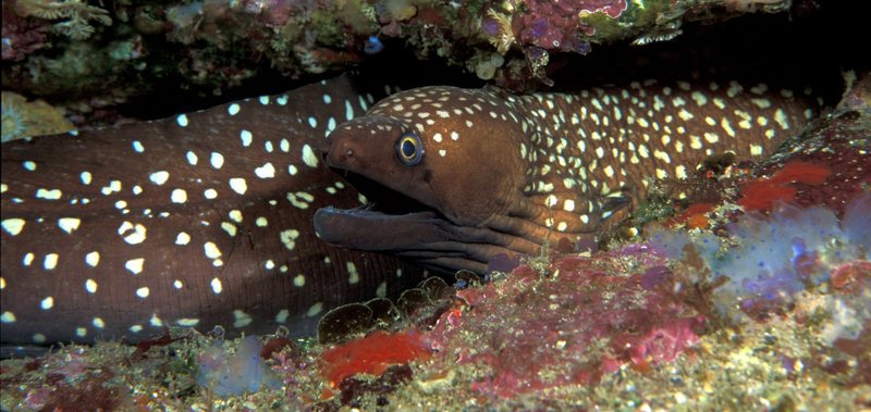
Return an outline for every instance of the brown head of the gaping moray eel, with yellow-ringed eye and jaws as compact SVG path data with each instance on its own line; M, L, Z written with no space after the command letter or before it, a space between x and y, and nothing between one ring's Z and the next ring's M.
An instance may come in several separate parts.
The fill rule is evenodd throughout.
M367 204L319 210L318 236L439 272L539 253L552 230L525 191L523 122L489 90L427 87L382 100L329 136L327 163Z

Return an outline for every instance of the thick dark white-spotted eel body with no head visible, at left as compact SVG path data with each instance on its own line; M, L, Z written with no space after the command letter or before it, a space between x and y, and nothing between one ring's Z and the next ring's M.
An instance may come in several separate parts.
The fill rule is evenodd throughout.
M3 345L136 341L169 326L304 335L331 308L419 282L311 227L319 208L360 204L320 158L327 133L376 101L358 86L340 77L3 143Z

